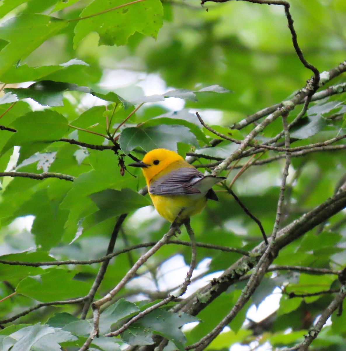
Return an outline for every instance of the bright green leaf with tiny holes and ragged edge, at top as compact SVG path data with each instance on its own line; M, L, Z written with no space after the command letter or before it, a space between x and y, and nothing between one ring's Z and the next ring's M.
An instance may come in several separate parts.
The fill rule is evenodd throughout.
M99 13L79 21L75 27L74 47L90 32L97 32L99 45L125 45L135 32L152 38L162 26L163 8L159 0L146 0L108 11L125 4L124 0L94 0L84 8L81 17ZM101 13L104 12L104 13Z

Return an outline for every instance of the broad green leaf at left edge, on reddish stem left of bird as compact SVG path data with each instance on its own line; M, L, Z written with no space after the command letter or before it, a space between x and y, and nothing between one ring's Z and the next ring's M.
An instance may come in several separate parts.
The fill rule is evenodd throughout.
M1 150L0 157L13 146L21 146L19 163L48 144L60 139L69 130L67 119L52 110L29 112L10 124L17 130Z

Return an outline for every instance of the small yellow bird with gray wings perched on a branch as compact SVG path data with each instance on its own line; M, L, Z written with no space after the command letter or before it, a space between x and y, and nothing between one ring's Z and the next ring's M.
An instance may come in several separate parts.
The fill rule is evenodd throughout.
M179 154L166 149L149 151L142 161L129 164L141 167L149 195L159 214L173 222L202 211L207 199L218 201L212 186L226 179L204 176Z

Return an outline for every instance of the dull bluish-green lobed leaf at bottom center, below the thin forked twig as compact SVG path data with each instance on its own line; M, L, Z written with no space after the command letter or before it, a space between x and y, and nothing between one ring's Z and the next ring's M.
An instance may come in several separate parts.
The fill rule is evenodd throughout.
M186 313L172 313L158 309L133 323L121 337L130 345L150 345L153 343L152 339L151 343L149 340L152 332L171 340L179 350L184 351L186 338L179 328L186 323L198 320Z

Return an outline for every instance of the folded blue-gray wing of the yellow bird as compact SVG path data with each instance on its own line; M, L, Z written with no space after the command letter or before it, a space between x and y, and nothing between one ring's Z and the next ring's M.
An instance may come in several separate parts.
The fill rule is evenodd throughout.
M193 187L194 183L203 178L203 173L196 168L182 167L162 176L149 187L154 195L193 195L201 192Z

